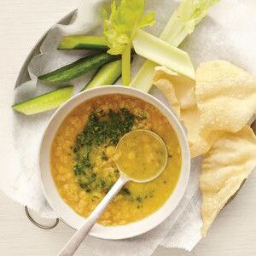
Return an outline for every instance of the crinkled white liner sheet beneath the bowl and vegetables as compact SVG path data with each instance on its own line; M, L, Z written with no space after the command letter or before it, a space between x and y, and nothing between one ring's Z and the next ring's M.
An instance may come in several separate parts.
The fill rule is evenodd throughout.
M81 0L79 13L69 26L55 26L41 45L41 55L33 57L28 65L31 81L20 85L15 93L0 87L0 189L22 205L39 212L42 217L55 218L55 212L44 198L38 170L40 138L52 112L26 117L14 113L10 106L30 96L53 90L53 85L37 83L37 76L79 59L84 51L58 51L56 45L63 34L99 33L100 9L103 0ZM157 24L148 31L159 35L178 3L170 0L148 0L148 9L156 13ZM189 52L195 67L201 61L224 59L256 74L256 2L253 0L221 0L214 6L209 17L201 22L196 31L181 46ZM142 63L137 57L132 69L135 73ZM79 91L90 75L76 79L72 84ZM6 92L8 91L8 93ZM154 96L165 101L157 90ZM198 190L200 158L192 160L189 186L183 200L159 227L143 236L124 241L103 241L93 237L86 240L88 247L97 255L147 256L159 246L180 247L191 250L201 239L201 195Z

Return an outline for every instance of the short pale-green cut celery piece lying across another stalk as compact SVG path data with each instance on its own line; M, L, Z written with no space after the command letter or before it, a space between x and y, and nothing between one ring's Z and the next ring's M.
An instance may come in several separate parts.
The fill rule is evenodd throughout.
M133 47L137 55L195 79L193 64L189 55L182 49L178 49L140 29L137 30L133 39Z

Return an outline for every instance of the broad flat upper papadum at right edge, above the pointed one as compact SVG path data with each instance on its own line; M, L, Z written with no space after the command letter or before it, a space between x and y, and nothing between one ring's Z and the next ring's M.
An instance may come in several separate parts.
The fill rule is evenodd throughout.
M201 63L195 96L204 137L240 131L256 113L256 79L228 61Z

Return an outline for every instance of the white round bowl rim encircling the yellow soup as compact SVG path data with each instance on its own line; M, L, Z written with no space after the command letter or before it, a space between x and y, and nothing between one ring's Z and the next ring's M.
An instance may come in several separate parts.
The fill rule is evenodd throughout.
M73 108L76 108L80 103L86 102L96 96L111 94L135 96L158 108L160 112L163 113L169 120L174 131L176 131L182 152L182 167L177 186L166 203L160 207L158 211L149 215L147 218L143 218L142 220L131 224L110 227L96 224L90 231L90 236L95 236L102 239L118 240L138 236L147 232L148 230L154 229L154 227L162 223L174 211L178 203L181 201L189 181L190 154L187 137L183 131L182 125L179 123L172 111L166 108L166 106L154 98L154 96L150 96L149 94L143 93L140 90L118 85L103 86L96 89L87 90L77 96L73 96L73 98L59 108L50 119L49 125L44 132L39 153L39 166L41 170L44 195L49 201L49 205L55 210L55 212L57 212L64 222L77 230L84 224L84 218L74 212L73 209L61 199L61 196L55 187L55 182L50 172L50 148L55 137L55 133L62 121L67 117L68 113L70 113Z

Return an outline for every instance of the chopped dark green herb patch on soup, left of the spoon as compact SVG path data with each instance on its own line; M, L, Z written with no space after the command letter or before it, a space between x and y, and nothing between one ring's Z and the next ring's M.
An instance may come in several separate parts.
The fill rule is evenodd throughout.
M131 131L135 123L135 115L128 109L122 108L118 112L112 109L103 111L96 109L90 114L89 120L84 130L76 137L73 147L74 166L73 170L78 177L79 186L84 191L108 191L113 187L113 183L119 177L119 170L115 169L108 176L108 182L104 181L100 174L94 172L95 163L90 160L90 153L94 148L104 145L116 145L125 133ZM107 146L106 146L107 145ZM108 155L103 151L102 160L108 160ZM125 191L125 192L124 192ZM129 195L129 190L123 190Z

